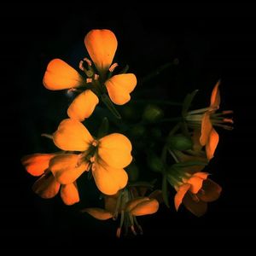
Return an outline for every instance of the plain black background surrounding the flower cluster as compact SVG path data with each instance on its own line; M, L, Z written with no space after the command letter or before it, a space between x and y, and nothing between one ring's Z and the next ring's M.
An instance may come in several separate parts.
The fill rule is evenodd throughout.
M113 3L109 3L112 5ZM114 4L113 4L114 5ZM143 7L35 4L6 8L1 14L2 128L1 236L11 247L218 248L251 247L255 231L255 17L247 4L157 3ZM40 137L66 117L64 92L45 90L45 67L56 57L73 67L84 57L84 35L93 28L111 29L118 38L116 59L140 80L157 67L178 58L151 84L138 84L146 98L154 89L159 99L181 101L200 89L206 106L212 86L222 79L221 108L233 109L234 131L219 131L220 143L209 168L223 187L207 214L194 217L181 209L161 207L140 218L143 237L114 238L116 224L79 214L93 204L90 188L80 204L66 207L56 196L44 201L31 189L20 157L51 150ZM139 81L140 82L140 81ZM136 92L134 93L134 95ZM87 194L86 194L87 193ZM88 194L90 193L90 194Z

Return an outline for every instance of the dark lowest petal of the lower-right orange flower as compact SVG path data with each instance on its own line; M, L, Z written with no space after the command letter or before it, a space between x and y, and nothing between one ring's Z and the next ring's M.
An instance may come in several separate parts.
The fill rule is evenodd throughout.
M197 217L201 217L207 212L207 202L195 201L189 194L184 196L183 205Z

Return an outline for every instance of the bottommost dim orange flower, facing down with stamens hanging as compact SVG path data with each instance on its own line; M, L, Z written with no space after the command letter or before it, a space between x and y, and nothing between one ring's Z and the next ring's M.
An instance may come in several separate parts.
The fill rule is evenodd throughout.
M85 208L82 212L88 212L92 217L100 220L116 219L120 214L120 224L116 233L118 237L121 235L123 225L125 225L126 230L130 227L132 233L137 235L136 225L140 233L143 234L142 227L137 223L136 217L153 214L158 211L159 202L153 197L156 194L158 193L153 192L148 197L133 198L131 190L123 189L115 195L105 195L105 209Z

